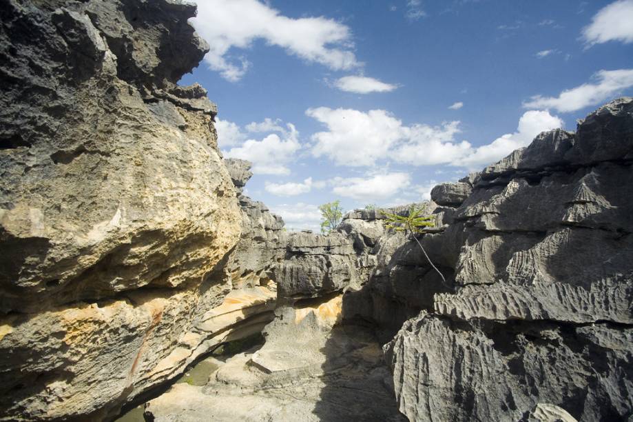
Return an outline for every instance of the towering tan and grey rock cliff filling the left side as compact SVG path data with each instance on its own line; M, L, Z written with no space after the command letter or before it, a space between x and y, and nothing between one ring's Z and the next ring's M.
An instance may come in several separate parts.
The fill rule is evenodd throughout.
M0 419L101 419L243 319L217 110L176 86L207 46L178 1L0 3Z

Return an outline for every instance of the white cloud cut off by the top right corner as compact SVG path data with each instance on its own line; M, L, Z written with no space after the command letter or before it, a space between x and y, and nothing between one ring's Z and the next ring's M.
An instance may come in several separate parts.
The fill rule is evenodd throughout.
M633 0L614 1L599 10L583 28L583 39L588 46L607 41L633 43Z

